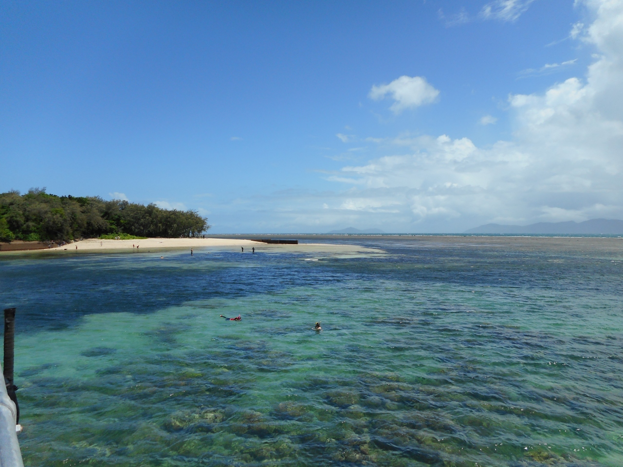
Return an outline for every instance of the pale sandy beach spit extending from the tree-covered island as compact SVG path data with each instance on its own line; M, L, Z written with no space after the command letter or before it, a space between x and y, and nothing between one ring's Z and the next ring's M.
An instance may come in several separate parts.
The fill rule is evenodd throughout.
M138 247L138 248L137 248ZM326 253L330 255L361 255L384 253L383 250L376 248L366 248L359 245L344 245L331 243L299 243L298 245L271 245L268 243L257 242L255 240L245 240L242 238L146 238L144 240L100 240L98 238L88 238L74 243L67 243L62 247L46 248L44 250L19 250L1 251L0 255L27 254L37 255L45 253L121 253L121 252L153 252L164 249L186 249L193 248L197 252L202 250L234 250L251 252L255 248L256 252L292 252L292 253Z

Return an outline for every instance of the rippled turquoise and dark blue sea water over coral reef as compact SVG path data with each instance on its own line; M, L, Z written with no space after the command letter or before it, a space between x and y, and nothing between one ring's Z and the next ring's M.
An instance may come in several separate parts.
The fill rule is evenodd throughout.
M26 465L623 465L620 253L374 246L2 258Z

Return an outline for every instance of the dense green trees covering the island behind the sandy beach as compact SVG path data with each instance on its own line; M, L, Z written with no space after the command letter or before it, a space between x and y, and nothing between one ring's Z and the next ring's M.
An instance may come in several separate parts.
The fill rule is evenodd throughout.
M56 196L43 189L0 194L0 242L74 240L105 234L138 237L198 237L210 226L194 210L103 200L98 196Z

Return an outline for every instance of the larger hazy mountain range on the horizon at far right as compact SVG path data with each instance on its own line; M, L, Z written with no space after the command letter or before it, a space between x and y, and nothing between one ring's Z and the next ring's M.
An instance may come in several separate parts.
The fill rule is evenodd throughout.
M584 222L538 222L530 225L485 224L465 234L623 234L623 220L591 219Z

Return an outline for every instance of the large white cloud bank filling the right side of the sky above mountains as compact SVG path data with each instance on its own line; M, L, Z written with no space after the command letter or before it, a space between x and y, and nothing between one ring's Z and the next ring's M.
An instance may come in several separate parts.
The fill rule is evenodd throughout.
M402 153L333 176L353 183L343 209L368 212L370 221L383 213L385 222L454 230L485 222L623 218L623 2L584 4L594 21L582 40L598 52L586 78L511 95L516 130L508 141L479 148L445 134L394 139Z

